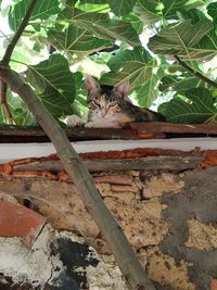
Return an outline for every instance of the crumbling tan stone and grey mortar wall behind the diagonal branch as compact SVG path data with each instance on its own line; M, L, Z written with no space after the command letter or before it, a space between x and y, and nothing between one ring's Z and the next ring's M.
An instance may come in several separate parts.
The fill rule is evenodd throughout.
M93 177L105 204L137 250L156 289L215 289L217 167L176 173L101 172L93 174ZM28 201L28 206L46 216L60 235L62 230L74 232L84 237L101 259L105 254L110 255L110 249L72 181L60 182L41 177L2 177L0 188L21 202ZM72 191L73 200L69 198ZM100 256L98 259L100 261ZM98 289L125 289L118 270L117 275L113 275L113 282L110 280L108 285L103 285L103 279L100 281L103 275L97 275L98 263ZM94 269L94 265L91 267ZM82 267L84 275L87 274L87 268L88 265ZM111 264L108 268L111 269ZM68 270L73 270L71 266ZM2 273L1 269L0 272ZM92 275L94 276L94 270ZM115 281L117 277L118 281ZM91 281L86 279L82 287L91 289Z

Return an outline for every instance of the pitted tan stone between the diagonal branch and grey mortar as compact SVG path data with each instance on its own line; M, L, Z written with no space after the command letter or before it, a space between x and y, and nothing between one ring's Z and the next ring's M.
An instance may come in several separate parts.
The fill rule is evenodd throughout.
M127 203L112 198L104 201L136 249L158 244L166 236L168 227L161 218L164 206L158 201Z

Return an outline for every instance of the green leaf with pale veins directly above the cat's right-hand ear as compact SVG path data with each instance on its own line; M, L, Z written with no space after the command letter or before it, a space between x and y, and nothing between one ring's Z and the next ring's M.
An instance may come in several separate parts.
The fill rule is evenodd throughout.
M102 76L101 83L113 86L129 79L133 90L149 81L154 63L149 52L141 47L122 50L110 59L107 65L111 72Z

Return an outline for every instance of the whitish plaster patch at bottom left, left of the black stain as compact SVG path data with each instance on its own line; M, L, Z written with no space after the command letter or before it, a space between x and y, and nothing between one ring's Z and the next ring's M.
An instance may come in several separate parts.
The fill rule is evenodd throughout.
M29 283L35 289L59 276L63 264L56 256L50 256L51 236L52 229L44 227L30 250L18 238L0 238L0 289L1 285L22 283ZM53 272L54 268L59 270Z

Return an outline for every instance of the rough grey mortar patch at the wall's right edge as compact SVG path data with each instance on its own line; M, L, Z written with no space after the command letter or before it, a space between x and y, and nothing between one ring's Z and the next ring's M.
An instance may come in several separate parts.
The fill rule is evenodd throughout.
M167 222L169 231L159 248L164 254L173 256L176 263L190 263L190 280L196 289L206 290L209 289L210 280L217 277L217 248L213 245L212 249L202 251L184 247L184 243L189 240L188 220L194 218L200 222L199 227L194 229L194 236L201 230L201 224L216 229L217 167L188 172L184 175L184 184L179 194L164 194L162 198L162 202L167 205L163 218Z

